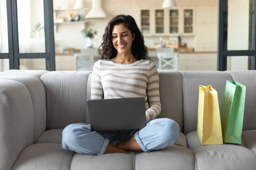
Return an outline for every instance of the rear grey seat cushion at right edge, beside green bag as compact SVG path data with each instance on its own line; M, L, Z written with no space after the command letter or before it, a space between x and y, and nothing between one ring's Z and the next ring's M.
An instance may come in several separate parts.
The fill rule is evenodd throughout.
M242 141L248 149L256 153L256 130L243 131Z

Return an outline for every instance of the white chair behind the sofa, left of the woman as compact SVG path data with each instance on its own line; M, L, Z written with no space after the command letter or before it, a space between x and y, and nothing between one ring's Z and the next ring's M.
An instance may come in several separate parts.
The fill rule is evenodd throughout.
M74 54L77 71L92 71L97 51L97 48L83 48L81 53Z

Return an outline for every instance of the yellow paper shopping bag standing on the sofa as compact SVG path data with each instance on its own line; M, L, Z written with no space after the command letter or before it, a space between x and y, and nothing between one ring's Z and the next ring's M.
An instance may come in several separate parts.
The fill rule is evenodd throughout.
M211 85L199 86L197 134L202 145L223 144L218 95Z

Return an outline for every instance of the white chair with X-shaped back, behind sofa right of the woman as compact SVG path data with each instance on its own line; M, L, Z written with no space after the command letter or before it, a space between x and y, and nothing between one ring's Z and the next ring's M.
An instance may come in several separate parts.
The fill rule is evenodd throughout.
M174 48L157 48L158 70L171 66L169 70L178 70L178 52Z

